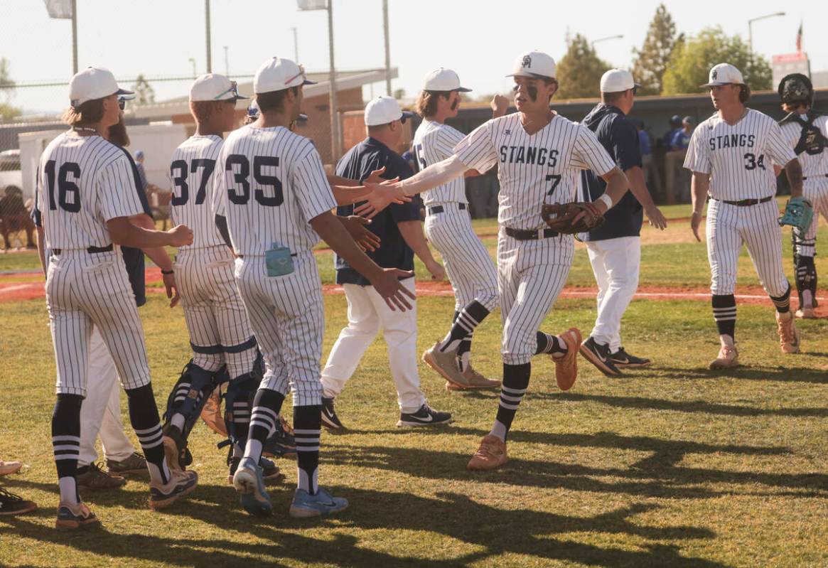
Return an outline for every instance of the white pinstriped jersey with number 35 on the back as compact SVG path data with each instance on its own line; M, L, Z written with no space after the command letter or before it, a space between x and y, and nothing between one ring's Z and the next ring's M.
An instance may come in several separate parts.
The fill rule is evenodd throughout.
M308 222L336 201L308 138L248 125L227 137L216 167L214 212L227 218L237 254L263 255L272 243L302 253L319 242Z

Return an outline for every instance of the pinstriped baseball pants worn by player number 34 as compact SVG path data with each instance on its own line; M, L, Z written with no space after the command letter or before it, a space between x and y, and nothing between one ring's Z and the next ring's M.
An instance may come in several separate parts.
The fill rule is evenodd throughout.
M782 268L782 232L777 219L776 200L739 207L710 200L707 208L707 259L710 262L710 291L733 294L742 245L748 247L759 281L770 296L782 296L788 289Z

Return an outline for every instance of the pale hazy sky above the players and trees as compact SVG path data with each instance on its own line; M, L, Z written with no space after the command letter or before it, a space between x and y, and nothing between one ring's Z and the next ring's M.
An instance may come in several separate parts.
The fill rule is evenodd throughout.
M191 75L190 58L205 72L204 0L77 0L79 62L103 65L118 77ZM598 39L598 54L609 63L630 65L659 2L552 2L511 0L389 0L392 65L399 68L395 89L414 94L423 75L451 67L476 94L508 89L515 56L539 49L559 59L566 33ZM693 34L718 23L728 34L748 36L752 17L784 10L753 24L755 51L770 57L795 51L797 28L804 22L804 47L811 70L828 70L828 2L665 2L679 31ZM802 7L811 7L805 12ZM336 64L339 69L384 65L380 0L334 0ZM231 74L253 73L272 55L293 58L291 27L299 36L299 59L308 70L327 70L325 12L298 12L295 0L212 0L213 70L224 72L229 48ZM67 80L71 75L70 22L53 20L41 0L3 0L0 5L0 56L19 82ZM186 83L156 84L158 99L186 93ZM376 92L382 91L376 86ZM55 109L65 104L65 89L20 89L13 103Z

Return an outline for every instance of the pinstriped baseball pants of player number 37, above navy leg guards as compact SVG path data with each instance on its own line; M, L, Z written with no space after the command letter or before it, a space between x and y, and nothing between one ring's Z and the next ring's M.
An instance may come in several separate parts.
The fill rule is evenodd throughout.
M193 362L209 372L218 371L227 363L230 378L249 373L256 360L256 348L238 353L227 350L253 337L247 312L238 296L229 248L222 245L182 250L176 257L176 282L181 290L181 306L192 344L224 349L224 353L194 351Z

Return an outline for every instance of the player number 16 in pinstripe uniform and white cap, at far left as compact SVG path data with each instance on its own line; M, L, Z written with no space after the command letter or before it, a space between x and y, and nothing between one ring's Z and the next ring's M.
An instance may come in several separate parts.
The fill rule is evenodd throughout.
M198 480L195 472L167 467L141 320L118 251L122 244L181 246L192 241L192 232L185 226L168 232L142 229L130 222L142 213L132 165L121 148L100 136L118 123L123 92L108 70L89 67L72 77L65 114L72 129L46 147L38 167L36 209L44 231L38 247L51 251L46 304L57 363L52 445L60 486L55 526L60 529L98 522L80 502L75 483L93 324L127 391L132 427L147 456L152 508L190 493Z

